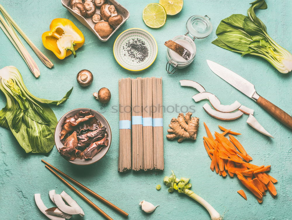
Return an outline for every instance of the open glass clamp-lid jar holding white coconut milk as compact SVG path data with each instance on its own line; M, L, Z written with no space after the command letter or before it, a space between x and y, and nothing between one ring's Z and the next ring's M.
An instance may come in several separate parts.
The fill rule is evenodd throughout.
M205 38L212 32L212 24L208 15L193 15L187 20L186 27L187 33L185 35L178 35L171 40L185 47L185 49L190 51L191 55L189 59L186 60L167 47L166 58L168 62L166 64L166 71L168 74L173 74L177 69L189 66L196 55L196 44L194 40L196 38Z

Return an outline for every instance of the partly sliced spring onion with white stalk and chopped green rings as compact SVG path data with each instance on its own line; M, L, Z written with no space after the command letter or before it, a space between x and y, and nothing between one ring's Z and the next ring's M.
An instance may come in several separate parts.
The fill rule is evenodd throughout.
M209 203L206 202L206 200L198 196L192 190L189 190L192 186L192 184L189 183L190 179L184 177L178 179L176 178L172 170L171 172L171 176L166 176L163 179L163 182L166 184L166 186L169 187L168 192L172 193L174 190L177 190L179 193L184 193L187 196L190 196L192 199L196 200L198 203L206 208L211 216L211 220L223 219L223 217L221 217L220 214Z

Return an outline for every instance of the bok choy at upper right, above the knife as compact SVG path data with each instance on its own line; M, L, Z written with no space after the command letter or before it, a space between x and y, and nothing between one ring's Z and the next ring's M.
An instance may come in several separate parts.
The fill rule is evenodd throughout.
M223 19L216 30L218 38L212 43L233 52L252 54L267 60L281 73L292 70L292 54L267 34L265 24L256 17L254 9L266 9L265 0L256 0L248 16L233 14Z

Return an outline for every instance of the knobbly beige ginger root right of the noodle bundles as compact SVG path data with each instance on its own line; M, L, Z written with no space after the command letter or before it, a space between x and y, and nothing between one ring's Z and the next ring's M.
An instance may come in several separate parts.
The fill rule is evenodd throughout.
M196 140L197 131L199 128L199 118L192 117L192 112L187 112L184 116L183 113L178 114L178 118L172 118L168 125L170 129L166 135L168 140L178 138L178 142L182 142L185 139Z

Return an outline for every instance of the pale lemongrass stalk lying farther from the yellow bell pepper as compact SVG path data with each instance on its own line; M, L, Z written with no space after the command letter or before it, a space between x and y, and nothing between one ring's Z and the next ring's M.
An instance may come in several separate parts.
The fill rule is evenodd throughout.
M31 55L26 50L26 48L23 46L22 42L15 35L14 30L12 30L9 27L8 23L6 22L6 20L4 20L4 18L1 15L0 15L0 22L3 24L3 26L5 27L5 29L6 29L7 32L5 32L3 28L1 28L1 29L4 31L4 33L6 35L8 34L8 35L11 36L11 38L13 38L15 44L17 45L17 47L19 48L19 50L22 52L22 55L23 55L23 57L24 57L24 59L25 59L25 61L27 63L27 66L29 67L30 71L32 71L32 73L34 74L34 76L36 78L38 78L40 76L40 71L39 71L39 67L36 65L36 62L34 61L34 59L32 59ZM8 36L8 38L9 38L9 36Z

